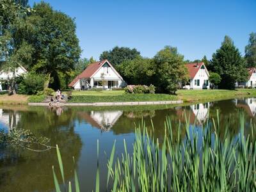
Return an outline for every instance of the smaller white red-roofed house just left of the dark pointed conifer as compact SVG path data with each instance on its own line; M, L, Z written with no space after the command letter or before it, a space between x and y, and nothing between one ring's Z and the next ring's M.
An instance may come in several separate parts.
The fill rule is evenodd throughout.
M209 89L209 72L204 65L204 62L200 63L187 63L189 83L185 88L193 90Z

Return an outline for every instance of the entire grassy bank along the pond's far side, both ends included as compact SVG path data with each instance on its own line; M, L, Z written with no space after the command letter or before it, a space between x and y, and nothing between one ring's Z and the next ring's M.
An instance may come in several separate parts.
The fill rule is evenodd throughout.
M67 94L67 93L65 93ZM256 89L238 90L178 90L177 95L168 94L125 94L116 91L74 91L68 102L136 102L183 100L184 102L208 102L213 100L234 99L238 97L256 97ZM0 104L28 104L42 102L44 95L0 95Z

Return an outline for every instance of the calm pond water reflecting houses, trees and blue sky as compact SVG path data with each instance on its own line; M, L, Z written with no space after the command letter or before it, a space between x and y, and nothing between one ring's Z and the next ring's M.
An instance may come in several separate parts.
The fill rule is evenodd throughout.
M134 141L134 127L145 120L148 129L154 122L155 138L164 136L164 120L170 116L173 134L177 136L179 120L184 124L183 111L196 121L196 131L201 129L207 114L216 117L220 111L221 134L225 130L233 137L239 133L239 114L244 111L246 127L255 124L256 99L234 99L207 102L191 106L138 106L117 108L44 108L27 106L0 106L0 129L29 129L36 136L51 139L49 145L59 145L65 166L65 180L73 180L74 167L78 170L82 191L95 188L97 168L97 140L100 143L100 182L106 186L107 155L116 140L116 154L124 151L124 139L129 152ZM197 116L196 116L197 115ZM227 125L230 124L230 127ZM176 125L176 126L175 126ZM191 128L192 129L192 128ZM248 134L248 128L244 134ZM186 132L180 132L185 139ZM200 143L200 142L199 142ZM72 163L72 156L76 164ZM31 152L0 148L0 191L53 191L52 165L58 168L56 150Z

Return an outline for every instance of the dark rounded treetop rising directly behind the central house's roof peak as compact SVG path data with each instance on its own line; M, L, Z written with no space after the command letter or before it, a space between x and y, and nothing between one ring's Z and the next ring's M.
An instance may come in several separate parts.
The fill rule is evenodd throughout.
M108 60L112 65L120 65L125 60L134 60L140 56L140 52L129 47L114 47L110 51L104 51L100 54L100 60Z

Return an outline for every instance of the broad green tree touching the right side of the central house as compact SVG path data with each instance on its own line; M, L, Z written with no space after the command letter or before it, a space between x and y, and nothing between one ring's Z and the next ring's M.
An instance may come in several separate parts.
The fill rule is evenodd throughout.
M152 59L137 56L134 60L122 62L116 70L128 84L154 84L156 70Z

